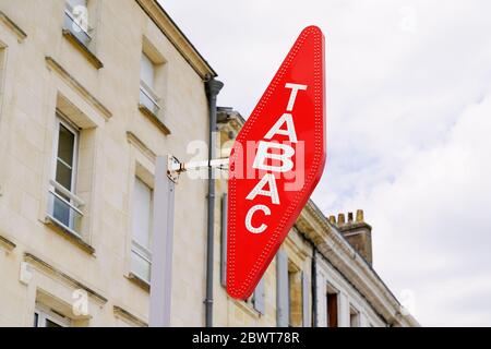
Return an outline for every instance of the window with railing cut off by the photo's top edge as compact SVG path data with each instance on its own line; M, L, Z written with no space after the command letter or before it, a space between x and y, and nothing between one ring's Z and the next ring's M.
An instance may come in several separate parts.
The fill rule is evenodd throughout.
M92 37L88 26L87 0L67 0L64 28L73 34L80 43L88 47Z

